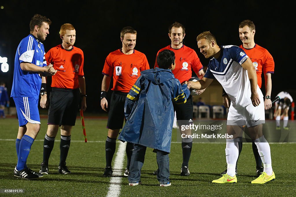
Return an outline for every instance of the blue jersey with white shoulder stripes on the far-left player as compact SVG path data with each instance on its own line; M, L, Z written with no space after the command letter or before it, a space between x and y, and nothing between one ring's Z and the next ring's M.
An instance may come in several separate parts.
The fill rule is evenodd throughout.
M37 72L23 71L20 63L28 62L36 66L47 66L44 58L44 46L32 34L22 39L15 54L15 68L11 97L39 97L41 77Z

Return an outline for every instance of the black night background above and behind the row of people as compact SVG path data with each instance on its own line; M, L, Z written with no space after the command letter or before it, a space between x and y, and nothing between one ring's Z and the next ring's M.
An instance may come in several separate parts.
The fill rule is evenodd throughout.
M12 86L15 52L29 32L30 19L41 14L52 21L45 50L61 44L60 26L71 23L76 29L76 47L84 52L87 112L102 112L99 105L102 69L107 55L121 48L120 30L134 27L135 49L143 52L150 68L156 53L170 44L168 26L177 21L186 28L184 44L193 48L203 66L208 60L199 52L196 37L211 31L219 45L240 45L238 25L244 19L256 25L255 43L266 48L274 58L272 97L288 91L296 98L292 72L295 17L292 5L268 1L0 1L0 56L8 57L9 72L0 71L9 93ZM292 55L292 56L290 56ZM264 84L264 83L263 83ZM112 86L112 84L111 84ZM263 85L264 87L264 85ZM14 103L11 103L14 105Z

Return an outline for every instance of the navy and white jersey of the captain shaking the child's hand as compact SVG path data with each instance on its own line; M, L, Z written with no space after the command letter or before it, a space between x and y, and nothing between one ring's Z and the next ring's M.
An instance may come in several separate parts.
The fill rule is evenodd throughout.
M227 45L220 48L219 58L210 60L204 77L218 80L229 95L233 107L245 107L252 103L248 72L241 66L248 56L238 46ZM262 95L258 85L257 92Z

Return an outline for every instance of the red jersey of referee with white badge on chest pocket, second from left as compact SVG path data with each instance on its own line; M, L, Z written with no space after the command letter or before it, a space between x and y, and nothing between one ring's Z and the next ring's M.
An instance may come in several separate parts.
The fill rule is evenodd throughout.
M113 76L112 90L129 92L140 72L147 69L150 68L144 53L133 50L127 55L118 49L107 56L102 74Z

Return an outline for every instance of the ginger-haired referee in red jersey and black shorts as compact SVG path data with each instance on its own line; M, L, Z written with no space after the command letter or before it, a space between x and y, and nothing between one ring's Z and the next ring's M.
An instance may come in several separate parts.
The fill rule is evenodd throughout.
M59 126L61 126L61 141L58 172L71 173L66 166L71 129L75 125L79 104L80 110L86 109L84 56L80 48L73 46L76 40L76 30L73 25L63 24L60 29L60 38L62 44L51 48L45 54L46 61L53 64L58 72L52 77L48 127L43 144L43 162L39 171L41 174L48 174L48 160Z

